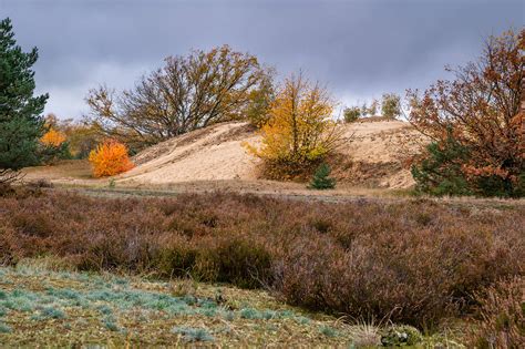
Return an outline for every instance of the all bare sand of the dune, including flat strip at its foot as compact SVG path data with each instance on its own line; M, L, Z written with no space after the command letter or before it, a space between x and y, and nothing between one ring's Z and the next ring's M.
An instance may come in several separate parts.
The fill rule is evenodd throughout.
M421 136L401 121L341 124L343 140L331 160L338 188L330 195L358 194L374 189L403 189L413 185L403 166ZM247 123L223 123L174 137L134 156L135 167L115 176L119 187L174 188L176 192L233 189L303 194L305 184L264 181L260 160L244 144L257 145L260 136ZM90 178L86 161L68 161L56 166L27 168L25 179L45 178L56 184L106 186L107 178ZM358 194L359 195L359 194Z

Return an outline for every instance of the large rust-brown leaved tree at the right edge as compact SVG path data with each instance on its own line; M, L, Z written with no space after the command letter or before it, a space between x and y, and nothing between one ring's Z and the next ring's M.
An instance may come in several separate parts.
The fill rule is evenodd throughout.
M454 80L437 81L422 96L409 91L409 120L433 143L423 156L434 157L426 164L436 175L415 168L433 182L422 187L440 186L442 170L456 168L451 173L473 194L525 195L524 50L525 30L491 37L476 62L447 68Z

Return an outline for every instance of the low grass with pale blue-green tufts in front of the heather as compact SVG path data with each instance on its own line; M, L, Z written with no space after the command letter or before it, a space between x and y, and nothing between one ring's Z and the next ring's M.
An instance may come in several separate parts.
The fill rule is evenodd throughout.
M0 268L0 346L381 345L379 328L307 314L262 291L191 280L52 271L41 268L47 261ZM391 327L385 333L405 329ZM455 343L411 331L419 343Z

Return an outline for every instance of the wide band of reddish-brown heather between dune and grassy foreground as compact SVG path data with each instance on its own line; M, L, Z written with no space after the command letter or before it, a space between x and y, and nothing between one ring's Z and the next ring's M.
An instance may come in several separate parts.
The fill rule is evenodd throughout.
M240 287L354 319L430 327L523 276L525 207L431 201L305 203L253 195L0 198L0 260L56 255L83 270Z

